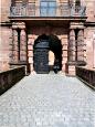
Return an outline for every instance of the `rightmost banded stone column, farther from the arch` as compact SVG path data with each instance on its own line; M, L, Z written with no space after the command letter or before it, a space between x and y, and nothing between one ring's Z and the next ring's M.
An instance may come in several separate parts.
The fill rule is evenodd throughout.
M77 62L84 62L84 31L80 30L77 33Z

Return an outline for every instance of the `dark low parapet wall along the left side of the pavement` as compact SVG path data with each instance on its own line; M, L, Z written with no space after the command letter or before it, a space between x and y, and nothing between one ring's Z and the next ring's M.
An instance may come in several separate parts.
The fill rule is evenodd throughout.
M25 66L11 68L0 73L0 95L12 87L25 75Z

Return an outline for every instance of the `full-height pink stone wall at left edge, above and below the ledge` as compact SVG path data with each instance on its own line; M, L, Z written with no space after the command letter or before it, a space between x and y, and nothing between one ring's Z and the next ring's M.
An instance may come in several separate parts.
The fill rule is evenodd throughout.
M10 6L11 0L1 0L0 8L0 71L4 71L9 68L9 42L11 29L8 27L10 22Z

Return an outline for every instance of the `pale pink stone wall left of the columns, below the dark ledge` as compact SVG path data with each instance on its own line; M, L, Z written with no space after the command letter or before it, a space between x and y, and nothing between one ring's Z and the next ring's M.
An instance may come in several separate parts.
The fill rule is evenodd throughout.
M2 27L0 29L0 71L9 68L9 42L11 36L11 29Z

